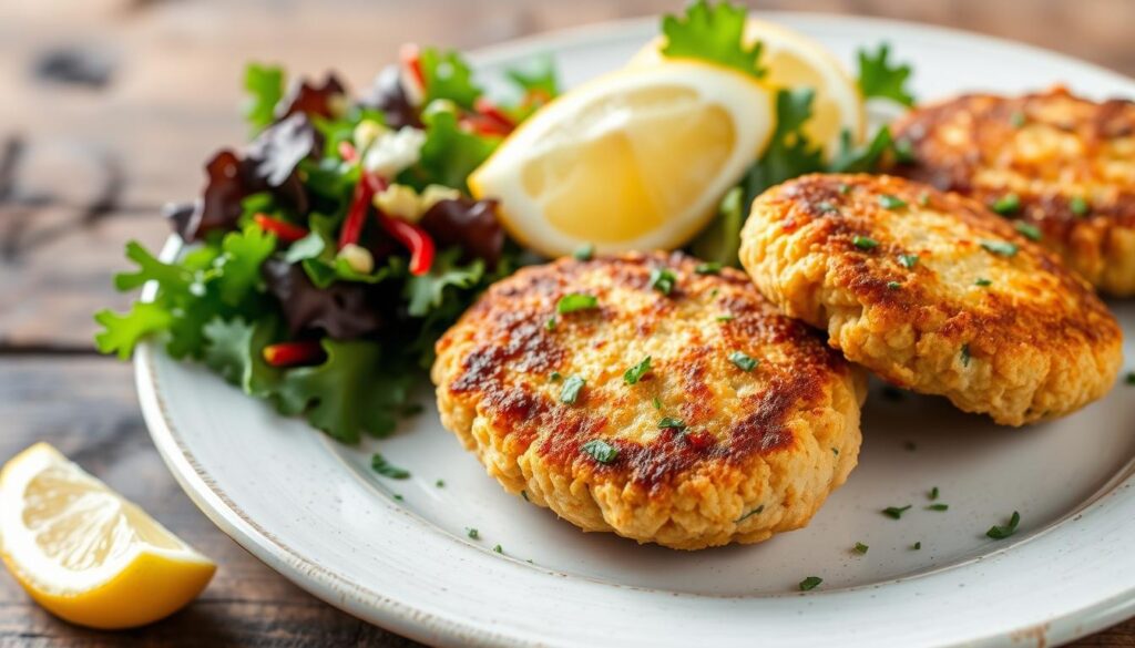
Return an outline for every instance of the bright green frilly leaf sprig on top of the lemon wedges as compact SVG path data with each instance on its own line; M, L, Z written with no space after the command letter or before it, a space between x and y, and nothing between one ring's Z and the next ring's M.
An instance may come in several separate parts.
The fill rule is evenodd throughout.
M745 7L698 0L686 8L684 16L662 19L662 33L666 39L662 53L707 60L760 78L765 74L758 66L760 42L746 45L746 15Z

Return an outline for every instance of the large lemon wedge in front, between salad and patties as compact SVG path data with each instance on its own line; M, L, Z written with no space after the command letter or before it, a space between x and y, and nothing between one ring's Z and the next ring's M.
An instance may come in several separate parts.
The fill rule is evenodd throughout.
M615 71L561 95L469 178L501 201L501 219L549 256L675 247L773 131L772 92L756 78L692 60Z

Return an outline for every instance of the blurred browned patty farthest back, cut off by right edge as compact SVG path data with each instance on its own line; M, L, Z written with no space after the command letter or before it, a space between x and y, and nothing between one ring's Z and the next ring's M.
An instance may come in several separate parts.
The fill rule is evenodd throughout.
M1135 103L973 94L894 128L892 172L995 207L1101 291L1135 294Z

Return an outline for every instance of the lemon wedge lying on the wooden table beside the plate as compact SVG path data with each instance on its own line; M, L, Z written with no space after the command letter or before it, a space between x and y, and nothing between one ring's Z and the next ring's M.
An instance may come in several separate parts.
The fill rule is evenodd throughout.
M216 565L53 447L0 472L3 561L36 603L100 629L133 628L193 600Z

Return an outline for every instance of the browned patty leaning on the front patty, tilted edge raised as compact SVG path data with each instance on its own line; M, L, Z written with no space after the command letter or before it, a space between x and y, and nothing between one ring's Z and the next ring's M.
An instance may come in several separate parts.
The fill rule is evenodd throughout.
M961 195L805 176L760 195L741 238L770 300L901 387L1020 426L1115 382L1121 333L1092 287Z

